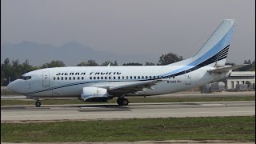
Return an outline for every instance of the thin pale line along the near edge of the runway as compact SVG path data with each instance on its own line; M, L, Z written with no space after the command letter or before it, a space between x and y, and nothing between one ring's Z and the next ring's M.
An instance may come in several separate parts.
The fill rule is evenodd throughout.
M228 113L250 113L250 112L254 112L254 110L251 111L228 111ZM220 111L216 111L216 112L190 112L190 114L225 114L227 113L226 111L220 112ZM120 115L119 113L117 113L118 115ZM182 113L150 113L150 114L182 114ZM150 114L121 114L121 115L150 115ZM77 115L82 115L82 114L68 114L68 115L60 115L60 114L53 114L53 115L22 115L22 117L30 117L30 116L43 116L43 117L53 117L53 116L60 116L60 117L66 117L66 116L77 116ZM113 115L113 114L87 114L88 116L90 115ZM3 115L2 115L3 116ZM14 115L14 116L3 116L3 117L9 117L9 118L17 118L17 117L21 117L19 115Z

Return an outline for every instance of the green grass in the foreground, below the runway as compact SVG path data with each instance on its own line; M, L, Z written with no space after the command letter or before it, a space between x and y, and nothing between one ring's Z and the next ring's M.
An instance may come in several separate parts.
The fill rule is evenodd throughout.
M255 116L2 123L2 142L234 140L255 142Z

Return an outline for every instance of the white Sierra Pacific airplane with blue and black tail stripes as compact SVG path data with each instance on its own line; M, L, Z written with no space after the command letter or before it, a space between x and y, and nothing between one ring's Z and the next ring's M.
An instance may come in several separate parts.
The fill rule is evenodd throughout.
M36 100L77 97L84 102L107 102L117 97L127 106L129 96L170 94L229 77L241 66L225 66L234 19L225 19L197 54L166 66L66 66L30 71L8 89Z

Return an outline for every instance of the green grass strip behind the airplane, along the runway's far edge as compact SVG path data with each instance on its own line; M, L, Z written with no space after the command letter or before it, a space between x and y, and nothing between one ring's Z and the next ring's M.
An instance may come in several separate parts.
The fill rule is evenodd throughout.
M150 97L128 97L131 103L140 102L223 102L223 101L255 101L255 95L243 97L191 97L191 98L150 98ZM95 102L82 102L76 99L46 99L42 101L42 105L63 105L63 104L90 104ZM116 98L111 99L108 103L116 103ZM15 105L34 105L34 101L27 100L1 100L1 106L15 106Z

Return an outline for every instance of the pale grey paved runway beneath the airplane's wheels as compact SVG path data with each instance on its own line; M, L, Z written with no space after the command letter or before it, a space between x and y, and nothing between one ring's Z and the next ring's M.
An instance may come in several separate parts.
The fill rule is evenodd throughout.
M254 101L1 106L1 122L247 115L255 115Z

